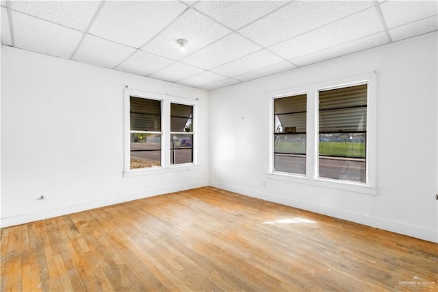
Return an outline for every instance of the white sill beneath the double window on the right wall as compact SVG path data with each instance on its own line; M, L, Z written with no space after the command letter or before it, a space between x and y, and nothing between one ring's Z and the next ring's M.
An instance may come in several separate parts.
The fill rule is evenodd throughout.
M334 188L342 191L351 191L355 193L363 193L367 195L377 195L375 186L359 184L354 182L345 182L342 180L329 180L322 178L306 178L300 175L291 175L286 173L265 173L268 180L283 180L285 182L295 182L298 184L309 184L311 186L321 186L324 188Z

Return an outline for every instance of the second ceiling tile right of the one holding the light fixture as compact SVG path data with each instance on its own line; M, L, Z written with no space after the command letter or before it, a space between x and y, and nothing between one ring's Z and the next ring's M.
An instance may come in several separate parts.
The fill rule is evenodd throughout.
M218 66L214 69L211 69L211 71L233 77L235 75L241 75L243 73L254 71L283 61L283 58L280 58L274 53L263 49L222 66Z

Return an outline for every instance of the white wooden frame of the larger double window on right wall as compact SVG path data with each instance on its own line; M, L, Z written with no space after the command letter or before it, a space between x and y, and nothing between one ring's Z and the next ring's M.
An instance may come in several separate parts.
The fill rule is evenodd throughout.
M269 169L266 172L266 178L271 180L283 180L287 182L296 182L310 184L313 186L322 186L326 188L335 188L338 190L352 191L355 193L365 193L376 195L376 94L377 94L377 73L376 71L350 77L337 78L335 80L326 80L313 84L275 90L266 93L270 102L269 114L269 151L270 162ZM319 108L318 108L318 91L334 88L344 88L359 84L368 84L367 92L367 138L366 138L366 182L352 182L344 180L335 180L330 178L318 178L318 156L319 156ZM306 175L296 175L294 173L281 173L274 171L274 99L287 97L291 95L307 94L307 149L306 149Z

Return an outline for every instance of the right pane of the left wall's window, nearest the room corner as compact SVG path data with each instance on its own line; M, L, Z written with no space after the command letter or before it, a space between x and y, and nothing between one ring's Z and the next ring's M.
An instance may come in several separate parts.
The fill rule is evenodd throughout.
M193 106L170 104L170 165L193 162Z

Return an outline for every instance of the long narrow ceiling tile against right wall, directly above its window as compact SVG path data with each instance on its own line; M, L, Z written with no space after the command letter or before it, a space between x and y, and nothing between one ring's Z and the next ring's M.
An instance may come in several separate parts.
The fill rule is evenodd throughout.
M372 36L367 36L359 40L353 40L345 44L324 49L315 53L308 54L299 58L292 59L291 62L298 66L306 66L316 62L322 62L339 56L344 56L349 53L355 53L357 51L363 51L364 49L370 49L372 47L378 47L385 45L389 42L385 32L380 32Z

